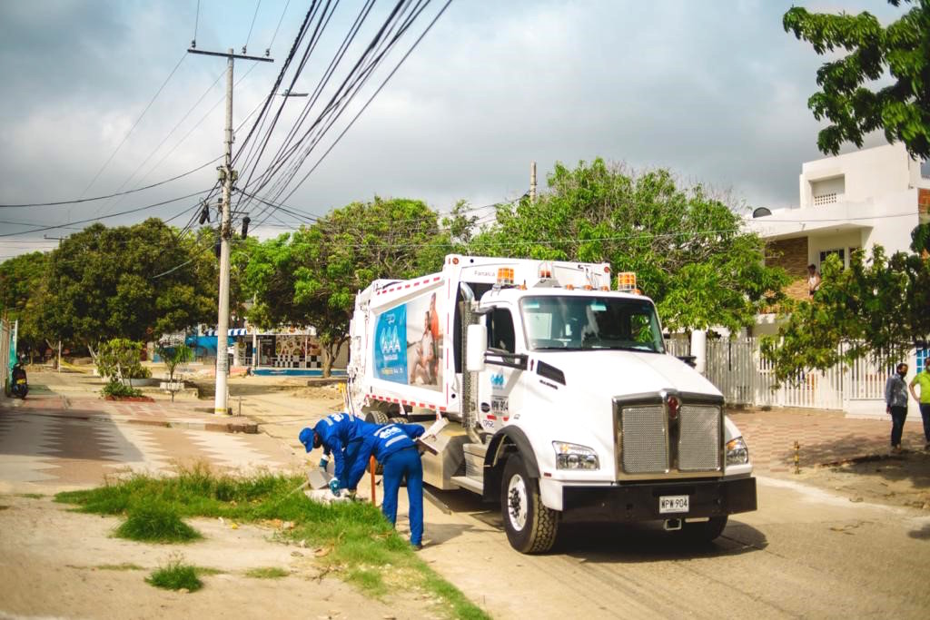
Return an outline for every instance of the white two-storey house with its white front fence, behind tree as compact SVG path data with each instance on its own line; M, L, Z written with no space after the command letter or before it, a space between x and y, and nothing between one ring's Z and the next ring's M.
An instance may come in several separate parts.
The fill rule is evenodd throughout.
M926 164L923 164L926 166ZM807 266L830 254L848 267L850 253L880 244L890 255L910 251L910 232L930 222L930 170L900 143L827 157L802 165L798 205L756 209L747 230L766 241L765 261L794 278L790 297L808 297ZM777 333L777 316L757 318L751 336ZM927 349L910 354L910 376L930 363ZM888 369L862 360L827 372L806 373L796 385L772 389L771 369L754 337L707 343L707 376L729 402L843 409L854 416L881 416ZM919 416L918 416L919 418Z

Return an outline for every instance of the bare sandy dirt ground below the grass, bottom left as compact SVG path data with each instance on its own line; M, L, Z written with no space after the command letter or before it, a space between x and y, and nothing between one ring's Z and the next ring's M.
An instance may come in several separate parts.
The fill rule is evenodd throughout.
M70 512L51 497L0 495L0 618L428 618L425 594L390 603L362 596L321 573L314 549L272 542L274 530L193 519L205 540L152 545L112 536L119 520ZM145 582L155 568L182 557L219 570L191 594ZM279 579L246 576L276 567Z

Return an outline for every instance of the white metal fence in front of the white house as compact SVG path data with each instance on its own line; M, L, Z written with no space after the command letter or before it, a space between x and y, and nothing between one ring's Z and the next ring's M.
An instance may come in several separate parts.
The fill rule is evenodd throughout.
M673 355L688 355L688 342L666 341ZM841 351L842 352L842 351ZM909 358L914 359L912 351ZM905 362L907 360L902 360ZM846 409L852 401L884 398L884 382L892 368L867 359L839 363L826 371L801 373L796 380L773 389L775 371L764 360L758 338L709 340L706 376L734 404Z

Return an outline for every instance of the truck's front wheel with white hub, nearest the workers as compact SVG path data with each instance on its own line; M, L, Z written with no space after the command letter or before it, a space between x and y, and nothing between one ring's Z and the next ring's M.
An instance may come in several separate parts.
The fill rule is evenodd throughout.
M504 465L500 517L511 547L521 553L545 553L555 544L559 513L542 505L539 481L529 477L520 455L512 455Z

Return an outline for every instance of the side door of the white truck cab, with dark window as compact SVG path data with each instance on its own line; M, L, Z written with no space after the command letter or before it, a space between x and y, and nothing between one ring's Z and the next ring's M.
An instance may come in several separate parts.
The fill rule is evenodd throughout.
M487 327L485 372L478 379L478 424L494 433L523 404L522 374L526 368L523 332L514 328L512 309L500 305L484 317Z

